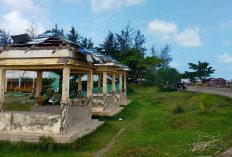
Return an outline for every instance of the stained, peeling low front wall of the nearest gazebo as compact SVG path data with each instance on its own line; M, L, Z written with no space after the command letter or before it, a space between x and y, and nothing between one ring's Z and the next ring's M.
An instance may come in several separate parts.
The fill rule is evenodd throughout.
M0 113L0 131L20 133L60 133L60 115L33 112Z

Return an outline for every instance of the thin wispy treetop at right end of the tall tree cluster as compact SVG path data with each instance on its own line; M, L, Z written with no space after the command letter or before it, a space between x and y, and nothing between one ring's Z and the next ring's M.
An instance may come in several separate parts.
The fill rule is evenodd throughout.
M169 52L171 52L170 45L166 45L164 48L160 49L159 58L164 60L163 63L161 63L162 68L166 68L169 65L169 63L172 61Z

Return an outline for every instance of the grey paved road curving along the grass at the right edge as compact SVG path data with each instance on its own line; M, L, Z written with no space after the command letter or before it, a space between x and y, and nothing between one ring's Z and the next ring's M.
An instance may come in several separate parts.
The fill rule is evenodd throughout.
M232 98L232 89L230 88L188 86L187 91L218 94Z

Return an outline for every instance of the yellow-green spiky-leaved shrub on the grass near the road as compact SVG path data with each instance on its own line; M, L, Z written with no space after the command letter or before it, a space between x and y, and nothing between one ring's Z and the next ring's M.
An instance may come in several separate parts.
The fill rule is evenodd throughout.
M199 107L204 112L209 112L213 106L213 99L210 95L202 93L199 96Z

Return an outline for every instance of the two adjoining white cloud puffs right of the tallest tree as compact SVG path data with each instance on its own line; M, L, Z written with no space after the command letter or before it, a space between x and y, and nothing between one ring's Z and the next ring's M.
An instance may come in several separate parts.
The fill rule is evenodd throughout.
M197 26L179 32L174 22L154 20L148 23L147 30L161 40L177 42L181 46L197 47L202 45Z

